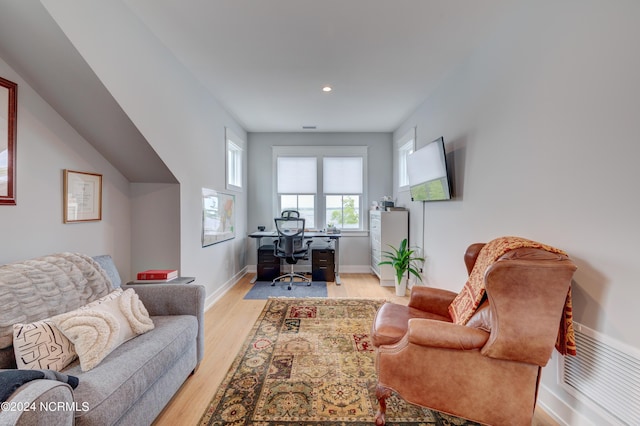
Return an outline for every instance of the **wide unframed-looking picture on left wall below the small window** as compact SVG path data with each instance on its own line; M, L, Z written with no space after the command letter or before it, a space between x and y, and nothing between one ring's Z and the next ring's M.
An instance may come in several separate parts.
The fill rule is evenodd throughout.
M236 236L236 197L202 188L202 247Z

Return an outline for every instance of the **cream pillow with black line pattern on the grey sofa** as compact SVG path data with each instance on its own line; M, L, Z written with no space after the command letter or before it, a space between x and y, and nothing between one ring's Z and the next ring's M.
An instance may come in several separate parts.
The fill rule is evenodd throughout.
M62 371L77 358L73 344L51 320L13 325L13 352L20 369Z

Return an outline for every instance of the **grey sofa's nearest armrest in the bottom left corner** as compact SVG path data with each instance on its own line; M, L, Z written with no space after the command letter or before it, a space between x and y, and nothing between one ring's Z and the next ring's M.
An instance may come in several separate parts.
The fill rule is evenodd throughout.
M56 380L33 380L20 386L0 411L0 425L73 425L73 390ZM3 407L4 408L4 407Z

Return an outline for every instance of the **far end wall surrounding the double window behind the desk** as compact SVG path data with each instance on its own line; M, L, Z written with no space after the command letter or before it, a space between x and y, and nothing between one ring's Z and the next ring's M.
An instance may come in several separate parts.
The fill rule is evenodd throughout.
M274 188L272 147L368 146L369 203L392 191L392 147L390 133L249 133L249 216L248 228L258 225L273 228ZM365 214L368 214L365 212ZM255 241L247 246L247 263L256 264ZM344 236L340 239L341 272L362 272L371 264L368 236Z

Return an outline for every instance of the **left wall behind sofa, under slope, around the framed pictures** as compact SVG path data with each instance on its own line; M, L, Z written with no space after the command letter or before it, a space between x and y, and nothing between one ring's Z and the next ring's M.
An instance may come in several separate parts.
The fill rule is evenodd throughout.
M6 62L18 84L17 205L0 206L0 264L62 251L111 254L130 268L129 183ZM63 170L102 174L102 220L63 223Z

